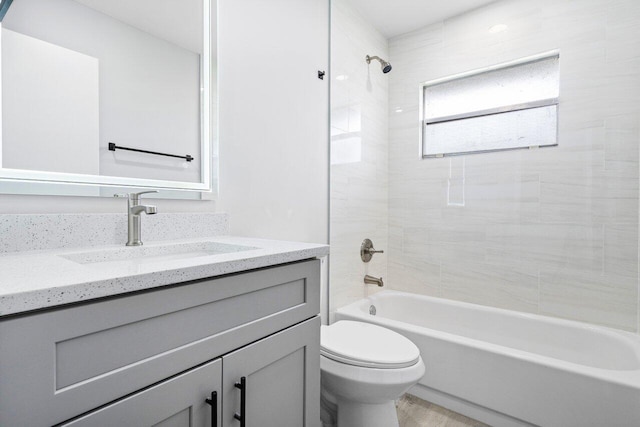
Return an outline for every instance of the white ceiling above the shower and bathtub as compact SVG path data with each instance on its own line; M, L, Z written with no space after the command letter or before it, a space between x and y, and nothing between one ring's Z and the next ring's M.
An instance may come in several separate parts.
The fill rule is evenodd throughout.
M408 33L495 0L347 0L385 37Z

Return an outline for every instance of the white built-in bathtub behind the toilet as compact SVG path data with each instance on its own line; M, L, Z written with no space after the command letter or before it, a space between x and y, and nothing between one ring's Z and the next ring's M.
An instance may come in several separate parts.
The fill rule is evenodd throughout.
M411 339L427 371L410 393L492 426L640 426L635 334L396 291L335 319Z

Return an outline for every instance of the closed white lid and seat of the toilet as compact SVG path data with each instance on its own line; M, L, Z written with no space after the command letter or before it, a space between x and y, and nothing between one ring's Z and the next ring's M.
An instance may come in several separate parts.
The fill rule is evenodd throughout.
M367 368L406 368L420 359L409 339L371 323L341 320L322 326L320 343L323 356Z

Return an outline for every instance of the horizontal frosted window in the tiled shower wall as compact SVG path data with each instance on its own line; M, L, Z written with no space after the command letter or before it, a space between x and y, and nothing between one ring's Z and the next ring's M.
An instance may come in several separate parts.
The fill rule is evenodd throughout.
M557 145L559 55L546 54L422 87L422 156Z

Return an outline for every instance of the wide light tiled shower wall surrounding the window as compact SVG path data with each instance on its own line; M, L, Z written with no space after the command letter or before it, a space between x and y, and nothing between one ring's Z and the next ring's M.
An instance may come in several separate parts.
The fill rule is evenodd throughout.
M558 147L419 158L420 82L553 49ZM390 287L640 330L640 2L500 1L389 51Z

